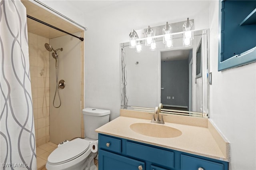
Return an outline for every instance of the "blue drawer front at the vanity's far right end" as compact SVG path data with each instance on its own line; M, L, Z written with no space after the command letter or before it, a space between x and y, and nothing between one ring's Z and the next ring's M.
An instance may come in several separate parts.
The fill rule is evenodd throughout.
M204 170L224 170L223 164L181 154L181 170L198 170L200 167Z

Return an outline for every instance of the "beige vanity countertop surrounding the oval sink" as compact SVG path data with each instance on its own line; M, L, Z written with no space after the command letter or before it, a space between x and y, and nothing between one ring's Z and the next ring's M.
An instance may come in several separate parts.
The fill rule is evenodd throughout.
M130 129L130 125L134 123L150 122L150 120L146 119L120 116L96 129L96 132L218 160L229 161L229 147L226 148L229 144L224 142L224 148L219 146L220 144L218 140L220 139L220 136L212 133L213 130L209 130L208 127L165 123L165 126L176 128L182 132L180 136L175 138L150 137L139 134Z

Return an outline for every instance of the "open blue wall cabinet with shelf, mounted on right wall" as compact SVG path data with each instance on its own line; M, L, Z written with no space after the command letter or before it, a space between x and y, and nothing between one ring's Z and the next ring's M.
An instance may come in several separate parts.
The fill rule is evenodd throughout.
M218 71L256 62L256 0L220 0Z

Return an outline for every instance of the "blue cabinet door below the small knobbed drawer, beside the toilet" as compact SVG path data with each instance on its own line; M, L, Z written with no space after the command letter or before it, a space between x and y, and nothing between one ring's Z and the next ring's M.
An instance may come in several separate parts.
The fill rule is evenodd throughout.
M99 150L99 170L145 170L145 163Z

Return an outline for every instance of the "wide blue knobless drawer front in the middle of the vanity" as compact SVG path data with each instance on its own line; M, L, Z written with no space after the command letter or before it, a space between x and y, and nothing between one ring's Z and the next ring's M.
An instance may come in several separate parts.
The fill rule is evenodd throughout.
M174 152L167 150L126 142L126 154L168 168L174 167Z

